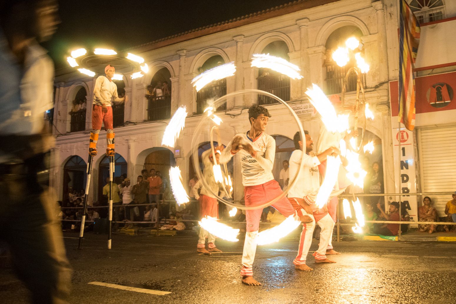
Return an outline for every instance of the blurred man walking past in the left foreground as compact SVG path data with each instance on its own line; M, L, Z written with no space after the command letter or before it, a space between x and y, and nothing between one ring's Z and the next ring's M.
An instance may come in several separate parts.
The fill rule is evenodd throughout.
M0 0L0 239L33 303L67 303L71 270L56 198L39 184L53 138L54 68L37 41L56 30L54 0Z

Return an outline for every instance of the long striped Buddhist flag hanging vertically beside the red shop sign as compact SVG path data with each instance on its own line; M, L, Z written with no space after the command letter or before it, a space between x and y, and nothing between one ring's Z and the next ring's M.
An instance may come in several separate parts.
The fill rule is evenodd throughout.
M415 127L415 77L413 68L420 42L420 25L405 0L399 0L399 121Z

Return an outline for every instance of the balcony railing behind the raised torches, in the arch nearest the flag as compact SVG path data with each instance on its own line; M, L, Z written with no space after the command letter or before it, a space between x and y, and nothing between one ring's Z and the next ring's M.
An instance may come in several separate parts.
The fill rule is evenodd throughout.
M338 65L326 66L326 94L339 94L342 93L342 86L347 71L351 68L351 65L345 67L339 67ZM356 91L357 76L356 73L350 73L347 81L346 92ZM366 85L366 74L362 76L363 85Z

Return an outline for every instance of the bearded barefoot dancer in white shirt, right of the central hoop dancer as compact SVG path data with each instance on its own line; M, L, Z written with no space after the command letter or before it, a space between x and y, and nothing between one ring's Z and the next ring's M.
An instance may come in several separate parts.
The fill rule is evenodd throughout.
M306 134L306 154L303 156L303 143L301 141L301 134L296 132L293 141L295 142L296 150L290 156L290 178L295 179L303 159L303 167L299 174L298 180L295 185L288 191L288 200L295 210L308 214L315 220L318 226L321 227L320 244L318 250L314 253L315 263L336 263L326 258L326 248L329 239L332 236L332 229L334 222L327 212L326 206L319 209L316 206L315 198L320 188L320 176L318 174L318 165L329 155L334 155L337 148L331 147L316 155L313 149L313 140L308 131ZM299 241L298 255L293 263L295 268L303 271L310 271L312 268L306 265L306 257L312 243L312 234L315 228L315 222L302 225L301 238Z

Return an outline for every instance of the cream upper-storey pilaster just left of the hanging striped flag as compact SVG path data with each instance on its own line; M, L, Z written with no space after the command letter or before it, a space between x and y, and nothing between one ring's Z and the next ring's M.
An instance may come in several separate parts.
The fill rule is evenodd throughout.
M372 2L372 7L376 10L377 15L377 32L378 32L378 81L379 82L387 82L389 79L388 75L388 47L386 44L386 27L385 27L385 10L383 9L383 2L382 0ZM383 54L380 55L380 54Z

